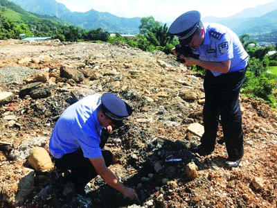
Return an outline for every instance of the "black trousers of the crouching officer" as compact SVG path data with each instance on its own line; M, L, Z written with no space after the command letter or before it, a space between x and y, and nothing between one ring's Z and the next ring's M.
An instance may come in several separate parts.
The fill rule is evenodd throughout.
M112 163L111 152L102 150L102 157L105 159L106 166L110 166ZM72 181L76 191L81 194L84 194L86 184L98 175L89 159L84 157L81 149L65 154L60 159L55 159L55 166L62 171L71 170L67 180Z

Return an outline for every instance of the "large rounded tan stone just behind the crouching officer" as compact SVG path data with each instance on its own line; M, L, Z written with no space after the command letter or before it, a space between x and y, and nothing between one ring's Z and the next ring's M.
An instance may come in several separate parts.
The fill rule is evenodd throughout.
M47 153L46 149L42 147L35 147L30 151L28 162L37 172L50 171L54 167L51 157Z

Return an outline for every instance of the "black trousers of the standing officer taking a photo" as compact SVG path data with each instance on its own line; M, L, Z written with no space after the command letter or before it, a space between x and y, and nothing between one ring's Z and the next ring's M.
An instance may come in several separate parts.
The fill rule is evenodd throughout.
M243 155L239 93L246 71L247 67L240 71L213 76L213 73L207 70L204 77L204 135L201 143L207 150L214 150L217 125L221 116L226 149L231 160L240 159Z

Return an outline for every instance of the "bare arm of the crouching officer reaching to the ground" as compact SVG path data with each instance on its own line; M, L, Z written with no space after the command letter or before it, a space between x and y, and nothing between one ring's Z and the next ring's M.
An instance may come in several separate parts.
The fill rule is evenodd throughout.
M93 164L94 168L96 169L96 172L98 175L102 177L102 180L104 180L110 187L113 187L114 189L120 191L123 193L124 196L127 196L130 200L138 200L138 196L136 195L136 191L134 189L130 189L128 187L125 187L117 178L114 173L112 173L109 168L105 165L104 158L97 157L97 158L89 158L91 164Z

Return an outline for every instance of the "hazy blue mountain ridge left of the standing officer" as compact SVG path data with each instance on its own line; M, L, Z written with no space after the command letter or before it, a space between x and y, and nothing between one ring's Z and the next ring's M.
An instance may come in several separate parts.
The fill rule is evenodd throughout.
M68 21L75 26L85 29L102 28L110 33L139 33L141 18L125 18L111 15L108 12L89 10L87 12L71 12L62 3L55 0L10 0L17 3L24 10L35 12L40 15L51 15Z

